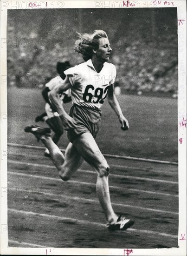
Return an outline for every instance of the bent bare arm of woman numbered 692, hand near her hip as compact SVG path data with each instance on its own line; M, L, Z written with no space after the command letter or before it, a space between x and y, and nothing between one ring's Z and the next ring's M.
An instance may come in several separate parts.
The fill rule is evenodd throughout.
M68 130L70 128L75 127L74 119L69 116L61 104L60 96L62 92L68 90L71 88L71 83L69 81L68 76L64 79L64 81L60 85L56 85L49 93L49 99L52 102L52 106L56 109L58 114L60 115L60 118L63 121L64 129Z

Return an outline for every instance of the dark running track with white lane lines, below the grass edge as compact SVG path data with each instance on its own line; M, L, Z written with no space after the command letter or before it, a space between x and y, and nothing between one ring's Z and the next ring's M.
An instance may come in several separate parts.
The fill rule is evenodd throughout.
M9 246L167 248L178 246L178 166L107 157L116 213L132 229L109 232L98 202L97 175L84 163L68 182L41 148L9 145Z

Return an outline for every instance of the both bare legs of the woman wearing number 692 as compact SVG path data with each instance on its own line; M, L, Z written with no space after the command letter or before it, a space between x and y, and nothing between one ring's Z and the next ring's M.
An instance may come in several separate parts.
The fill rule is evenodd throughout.
M73 141L73 144L70 142L66 149L65 158L50 136L41 136L41 141L49 149L52 160L59 171L58 174L64 181L69 180L81 165L82 158L97 171L96 190L99 201L108 223L115 223L118 216L112 209L110 201L109 165L100 152L93 136L90 133L84 133Z

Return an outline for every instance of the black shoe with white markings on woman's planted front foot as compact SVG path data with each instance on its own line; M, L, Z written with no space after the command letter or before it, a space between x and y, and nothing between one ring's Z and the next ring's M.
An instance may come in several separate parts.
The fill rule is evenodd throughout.
M125 217L119 216L117 222L109 225L108 229L110 231L126 230L129 229L134 223L135 221L133 220L125 219Z

